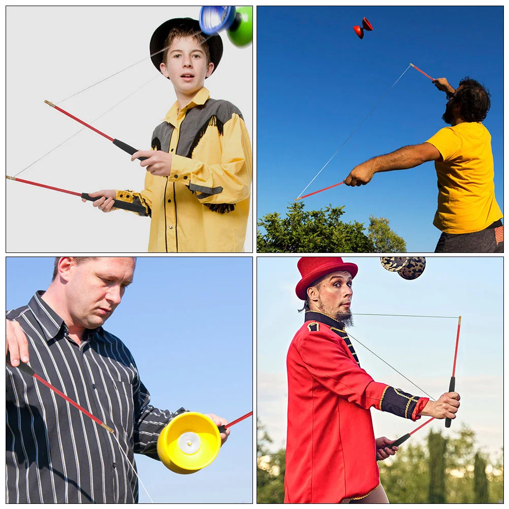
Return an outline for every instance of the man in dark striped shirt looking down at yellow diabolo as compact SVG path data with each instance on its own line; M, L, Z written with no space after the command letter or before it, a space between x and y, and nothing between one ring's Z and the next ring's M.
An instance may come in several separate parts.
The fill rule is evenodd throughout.
M135 259L62 257L46 292L7 313L6 354L101 419L107 433L34 378L6 369L6 501L133 503L134 453L157 456L178 413L150 405L134 359L102 328L132 282ZM227 420L209 414L217 425ZM229 430L221 433L222 442Z

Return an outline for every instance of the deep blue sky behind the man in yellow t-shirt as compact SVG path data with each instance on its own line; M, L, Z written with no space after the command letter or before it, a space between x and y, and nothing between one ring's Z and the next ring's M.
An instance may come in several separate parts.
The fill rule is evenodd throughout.
M373 25L360 40L353 25ZM503 7L258 8L258 209L286 207L413 63L454 87L484 83L491 110L495 195L503 211ZM371 157L425 142L445 123L445 94L410 68L306 190L341 182ZM345 205L344 221L386 217L409 252L434 251L432 162L375 175L304 199L305 210Z

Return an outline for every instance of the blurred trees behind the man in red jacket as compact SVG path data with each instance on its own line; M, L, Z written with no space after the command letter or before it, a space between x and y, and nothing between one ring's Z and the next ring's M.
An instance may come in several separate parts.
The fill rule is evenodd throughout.
M271 443L257 420L258 503L285 497L285 449L273 453ZM422 442L411 439L378 466L391 503L503 503L503 449L490 457L466 425L453 437L431 430Z

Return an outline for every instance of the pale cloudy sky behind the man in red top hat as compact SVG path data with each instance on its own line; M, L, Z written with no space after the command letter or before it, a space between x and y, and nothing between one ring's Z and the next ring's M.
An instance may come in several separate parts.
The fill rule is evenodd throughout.
M461 396L458 418L445 430L433 421L412 436L424 440L433 427L454 435L465 423L477 445L499 453L503 445L503 259L428 257L425 271L414 280L383 269L379 257L343 257L356 263L352 313L462 316L456 389ZM304 322L295 295L300 280L298 258L257 260L257 408L273 438L274 449L286 440L286 355ZM349 332L435 399L447 392L453 369L458 319L354 316ZM423 395L355 341L364 370L377 382ZM389 413L371 411L375 435L398 438L422 424Z

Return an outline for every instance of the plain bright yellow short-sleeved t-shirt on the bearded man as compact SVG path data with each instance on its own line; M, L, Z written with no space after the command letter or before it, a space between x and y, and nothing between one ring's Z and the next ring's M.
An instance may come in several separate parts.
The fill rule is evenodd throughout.
M433 224L444 233L473 233L501 219L488 129L480 122L462 122L440 129L427 142L443 158L435 161L438 207Z

